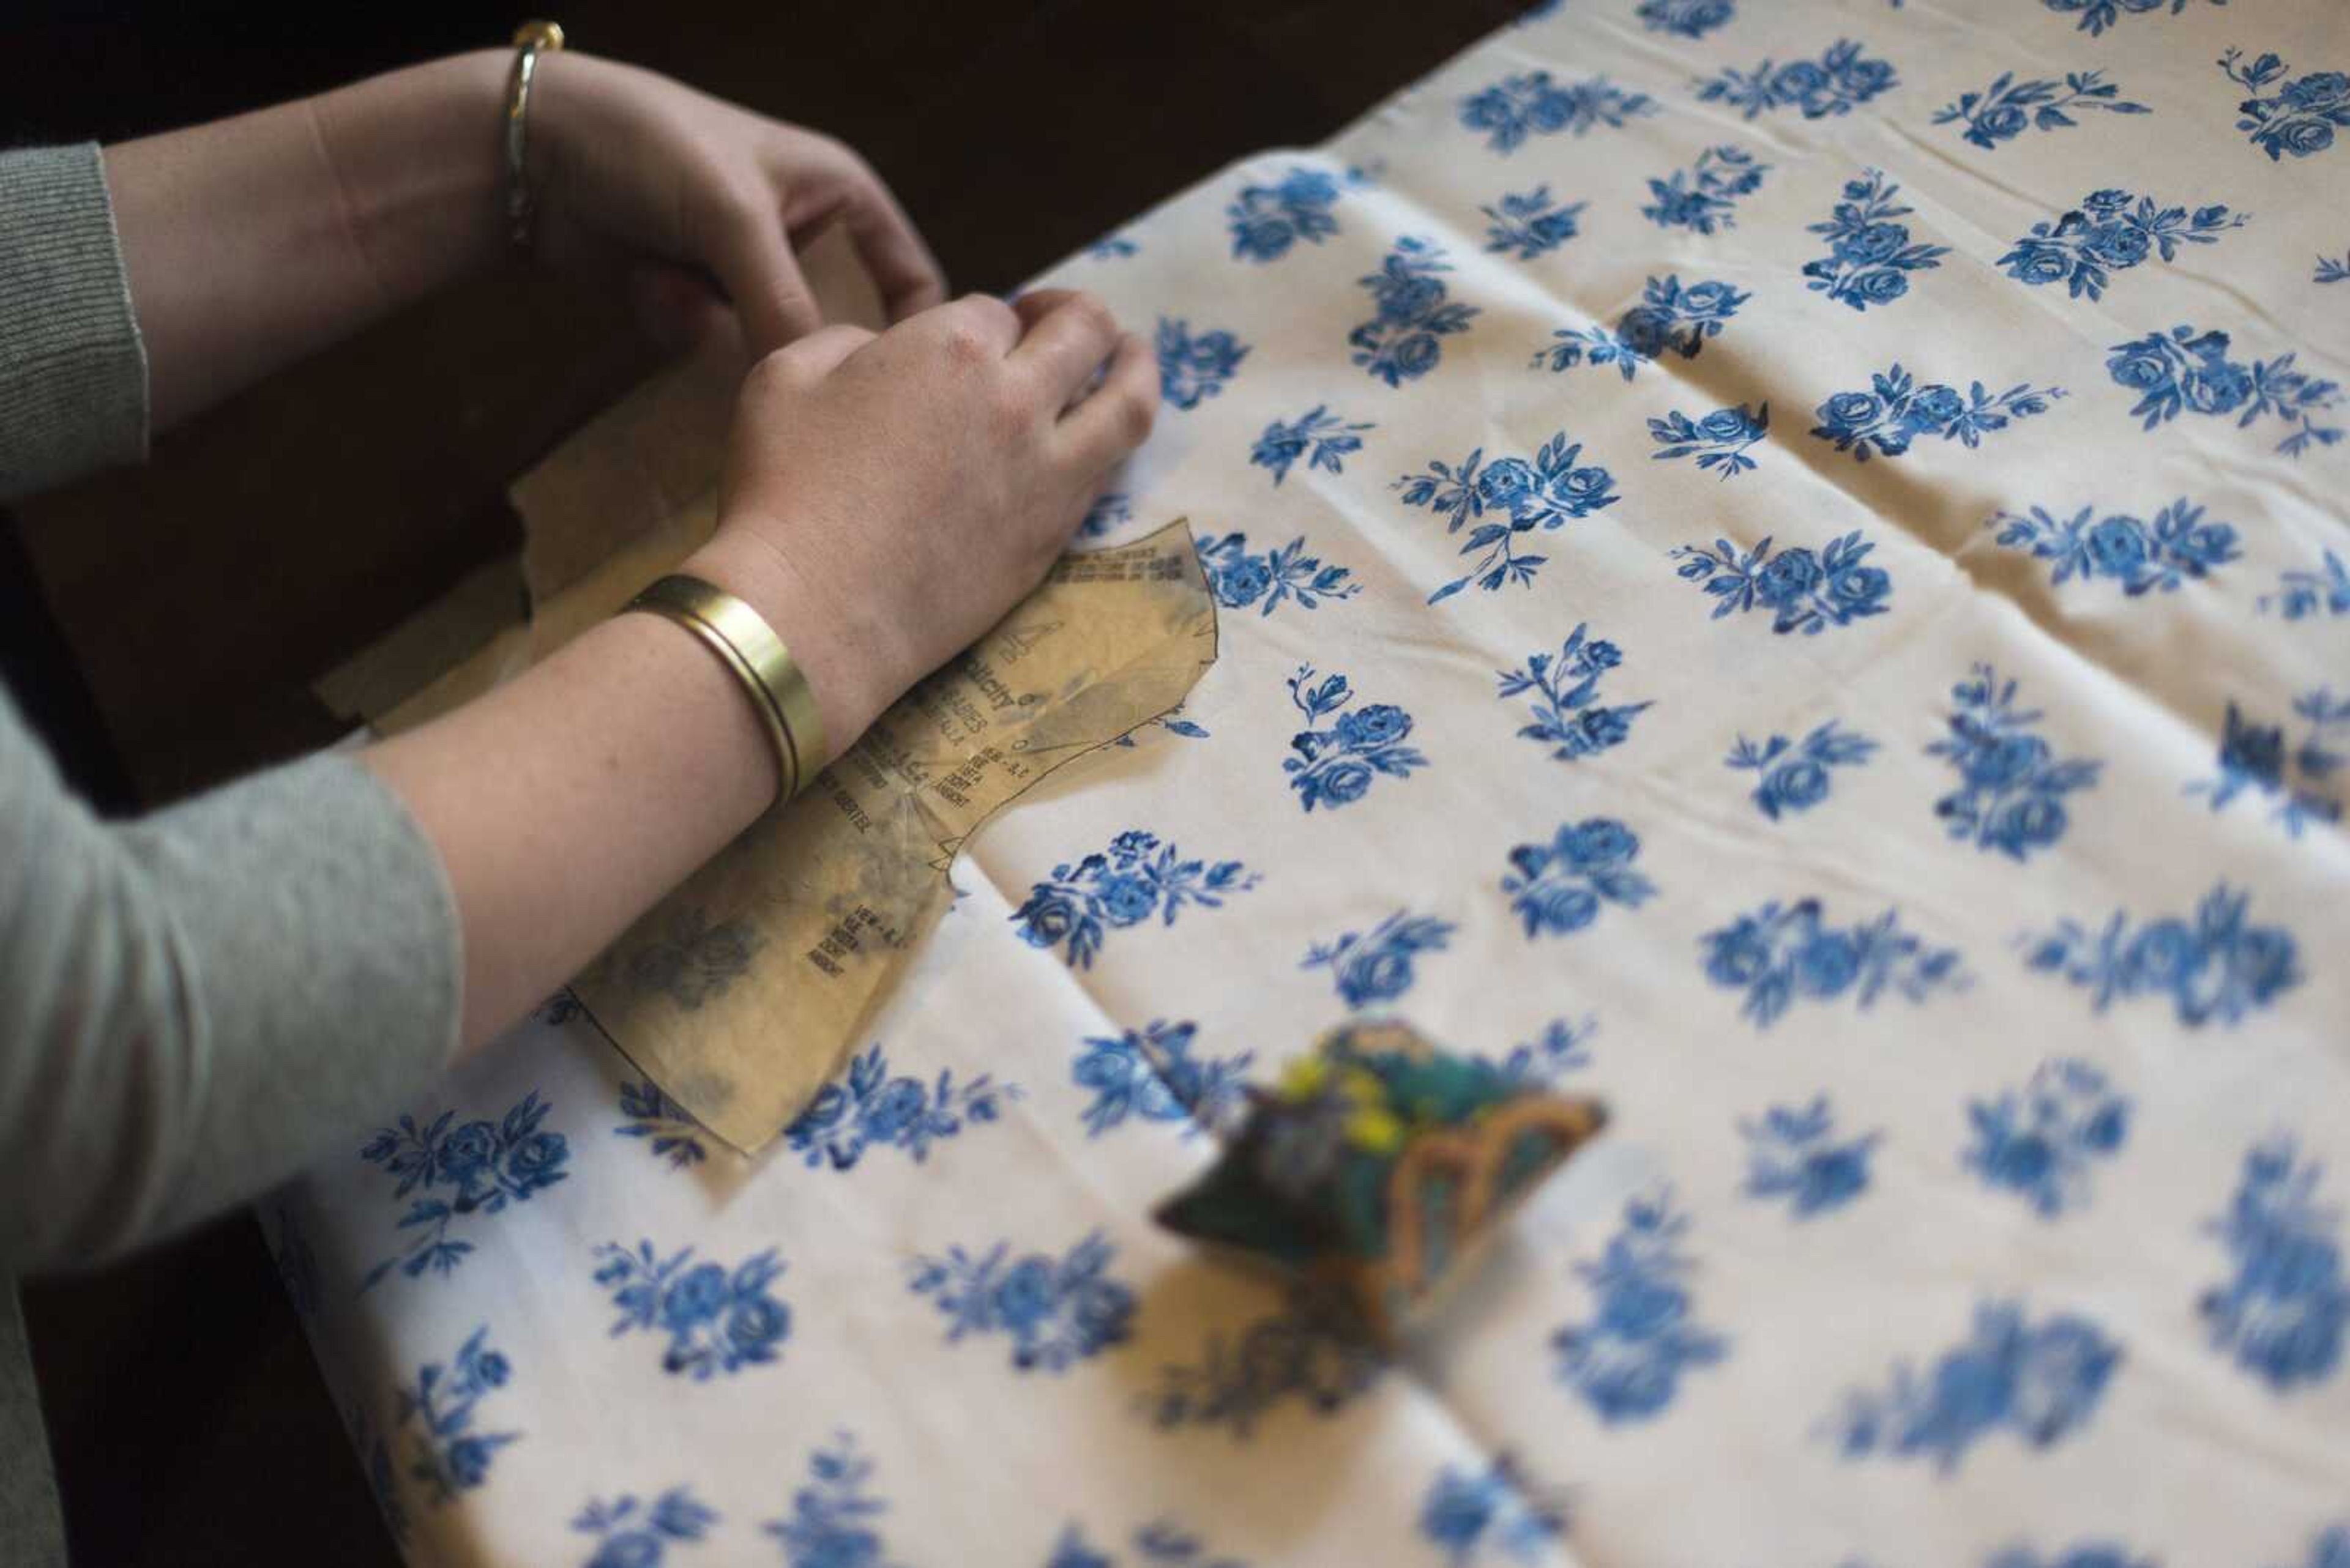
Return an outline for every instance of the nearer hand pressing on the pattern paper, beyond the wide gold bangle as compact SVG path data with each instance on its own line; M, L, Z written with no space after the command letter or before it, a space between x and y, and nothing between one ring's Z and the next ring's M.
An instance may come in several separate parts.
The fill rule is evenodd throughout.
M1149 346L1090 294L825 327L745 378L686 571L766 616L839 755L1043 581L1156 409Z

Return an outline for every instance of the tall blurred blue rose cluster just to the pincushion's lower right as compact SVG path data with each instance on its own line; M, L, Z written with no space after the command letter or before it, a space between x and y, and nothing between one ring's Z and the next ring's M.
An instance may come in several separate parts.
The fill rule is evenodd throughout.
M1730 1338L1697 1321L1687 1232L1690 1215L1659 1190L1624 1204L1598 1262L1574 1265L1591 1286L1591 1316L1558 1328L1551 1347L1558 1378L1610 1427L1661 1415L1685 1375L1730 1354Z

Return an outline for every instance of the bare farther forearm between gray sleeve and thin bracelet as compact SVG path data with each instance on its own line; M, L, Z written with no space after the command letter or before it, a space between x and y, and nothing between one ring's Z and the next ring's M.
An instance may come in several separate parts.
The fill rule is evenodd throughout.
M106 148L153 425L491 263L510 54Z

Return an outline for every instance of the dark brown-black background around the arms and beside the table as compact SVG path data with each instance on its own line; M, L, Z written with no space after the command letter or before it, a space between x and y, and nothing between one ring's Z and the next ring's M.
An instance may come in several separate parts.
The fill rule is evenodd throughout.
M1520 5L559 0L548 14L573 47L848 139L949 282L1001 292L1231 158L1325 139ZM503 42L524 16L9 9L0 146L209 120ZM428 301L174 430L143 470L0 510L0 675L108 813L322 745L341 726L310 682L510 555L505 482L653 364L588 280L517 266ZM24 1295L78 1566L397 1561L249 1215Z

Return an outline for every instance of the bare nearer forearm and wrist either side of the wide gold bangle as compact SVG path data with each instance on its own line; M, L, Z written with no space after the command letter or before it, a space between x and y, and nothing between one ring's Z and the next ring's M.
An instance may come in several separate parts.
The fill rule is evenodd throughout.
M684 571L740 592L808 670L834 743L888 693L733 541ZM364 752L439 849L463 931L461 1051L496 1037L776 799L736 677L684 628L606 621L498 691Z

